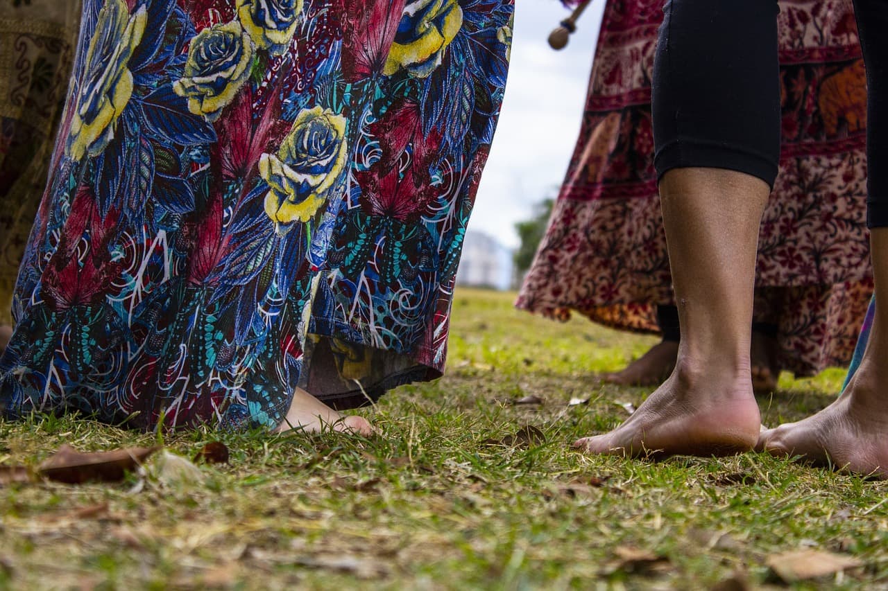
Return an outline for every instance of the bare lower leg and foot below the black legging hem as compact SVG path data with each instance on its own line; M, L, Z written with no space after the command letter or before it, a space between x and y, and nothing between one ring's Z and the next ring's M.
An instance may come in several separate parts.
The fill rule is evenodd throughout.
M760 179L731 170L678 169L663 177L663 221L681 321L677 366L628 421L578 446L594 453L710 455L755 444L759 415L749 378L749 327L755 231L767 193ZM734 207L725 208L728 201Z

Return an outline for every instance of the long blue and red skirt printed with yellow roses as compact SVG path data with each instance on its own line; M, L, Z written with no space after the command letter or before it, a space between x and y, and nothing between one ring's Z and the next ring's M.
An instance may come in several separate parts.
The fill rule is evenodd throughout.
M440 376L511 0L86 0L8 416L274 427Z

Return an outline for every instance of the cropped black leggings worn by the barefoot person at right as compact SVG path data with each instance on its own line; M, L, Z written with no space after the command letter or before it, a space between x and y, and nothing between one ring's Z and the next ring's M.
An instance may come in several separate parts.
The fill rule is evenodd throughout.
M654 59L654 164L773 186L780 159L777 0L670 0ZM869 227L888 226L888 0L854 0L867 67Z

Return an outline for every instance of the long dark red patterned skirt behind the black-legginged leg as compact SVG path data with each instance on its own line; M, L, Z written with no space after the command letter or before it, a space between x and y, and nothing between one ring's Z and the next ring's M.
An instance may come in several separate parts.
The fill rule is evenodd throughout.
M781 172L759 235L756 320L797 375L851 359L872 279L866 93L851 0L780 2ZM656 332L673 303L654 173L662 0L607 3L583 127L519 308Z

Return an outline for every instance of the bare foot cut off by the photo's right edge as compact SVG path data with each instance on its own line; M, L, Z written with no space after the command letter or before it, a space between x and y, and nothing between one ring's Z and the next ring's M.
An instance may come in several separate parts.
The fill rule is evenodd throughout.
M888 408L877 397L874 372L863 369L820 413L763 431L757 449L781 457L801 456L854 474L888 477Z

